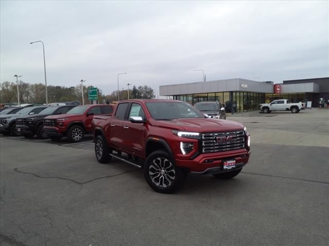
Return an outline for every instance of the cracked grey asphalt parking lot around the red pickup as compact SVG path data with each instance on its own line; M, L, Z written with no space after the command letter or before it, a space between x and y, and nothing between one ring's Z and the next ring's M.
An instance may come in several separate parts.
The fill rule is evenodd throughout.
M154 192L92 138L0 137L1 245L328 245L329 110L229 115L251 134L232 180Z

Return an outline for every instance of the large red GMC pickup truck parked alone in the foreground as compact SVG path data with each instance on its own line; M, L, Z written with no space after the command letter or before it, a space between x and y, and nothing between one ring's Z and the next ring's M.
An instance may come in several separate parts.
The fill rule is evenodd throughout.
M95 116L92 125L97 160L115 157L142 168L160 193L176 191L188 173L233 178L250 156L242 124L206 118L183 101L120 101L112 116Z

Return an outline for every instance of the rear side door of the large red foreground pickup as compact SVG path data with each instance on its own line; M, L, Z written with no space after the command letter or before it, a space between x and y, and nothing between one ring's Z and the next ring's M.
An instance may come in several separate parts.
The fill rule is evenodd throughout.
M126 109L128 107L128 103L120 103L117 106L117 110L115 112L115 117L111 119L109 123L109 141L116 148L123 150L123 139L124 139L124 129L123 124L127 122L125 119Z

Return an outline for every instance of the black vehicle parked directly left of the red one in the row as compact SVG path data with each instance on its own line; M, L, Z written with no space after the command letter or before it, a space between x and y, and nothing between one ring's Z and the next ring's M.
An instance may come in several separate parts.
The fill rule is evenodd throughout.
M26 115L16 119L16 129L24 137L33 137L35 134L39 139L47 138L43 130L43 119L49 115L66 114L75 105L50 106L37 115Z

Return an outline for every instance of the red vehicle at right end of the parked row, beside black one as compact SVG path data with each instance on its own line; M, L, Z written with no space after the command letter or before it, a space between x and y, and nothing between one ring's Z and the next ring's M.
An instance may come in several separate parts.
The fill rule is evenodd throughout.
M92 132L94 115L112 115L113 105L78 106L66 114L50 115L44 118L44 132L52 140L66 136L71 142L79 142L84 134Z

